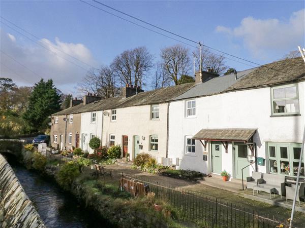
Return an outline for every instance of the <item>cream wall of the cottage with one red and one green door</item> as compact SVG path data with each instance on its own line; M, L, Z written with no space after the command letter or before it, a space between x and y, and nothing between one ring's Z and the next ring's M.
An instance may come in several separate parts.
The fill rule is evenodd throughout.
M149 153L161 163L162 157L166 157L167 141L167 103L159 104L159 120L150 119L151 105L132 106L116 109L116 121L110 121L111 110L105 110L109 116L104 116L102 144L109 146L110 134L115 135L115 144L123 145L123 135L128 136L128 153L130 159L134 159L133 136L138 135L141 152ZM158 135L158 152L149 150L149 136ZM143 140L143 138L145 138Z

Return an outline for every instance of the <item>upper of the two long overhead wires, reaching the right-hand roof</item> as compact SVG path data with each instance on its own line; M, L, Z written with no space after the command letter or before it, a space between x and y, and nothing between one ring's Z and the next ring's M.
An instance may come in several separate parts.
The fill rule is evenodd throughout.
M80 1L83 2L82 0L80 0ZM244 58L240 58L240 57L235 56L235 55L232 55L232 54L229 54L229 53L227 53L227 52L223 52L223 51L218 50L218 49L216 49L216 48L212 48L212 47L209 47L209 46L207 46L207 45L203 45L203 44L201 44L200 42L193 41L193 40L191 40L191 39L189 39L189 38L187 38L187 37L185 37L185 36L176 34L176 33L174 33L174 32L171 32L171 31L167 30L167 29L164 29L164 28L161 28L161 27L156 26L156 25L154 25L154 24L151 24L151 23L149 23L149 22L146 22L146 21L144 21L144 20L142 20L142 19L139 19L139 18L134 17L134 16L132 16L132 15L130 15L130 14L127 14L127 13L125 13L125 12L123 12L123 11L117 10L117 9L115 9L115 8L113 8L113 7L110 7L110 6L106 5L106 4L104 4L104 3L101 3L101 2L99 2L99 1L97 1L97 0L92 0L92 1L95 2L95 3L97 3L97 4L102 5L102 6L104 6L104 7L107 7L107 8L109 8L109 9L111 9L111 10L114 10L114 11L116 11L116 12L118 12L118 13L124 14L124 15L126 15L126 16L128 16L128 17L131 17L131 18L133 18L133 19L135 19L135 20L138 20L138 21L140 21L140 22L142 22L142 23L145 23L145 24L147 24L147 25L153 26L153 27L155 27L155 28L158 28L158 29L160 29L160 30L163 30L163 31L165 31L165 32L168 32L168 33L170 33L170 34L172 34L172 35L178 36L178 37L180 37L181 39L184 39L184 40L193 42L193 43L195 43L195 44L197 44L197 45L206 47L206 48L208 48L208 49L211 49L211 50L220 52L220 53L222 53L222 54L225 54L225 55L228 55L228 56L231 56L231 57L234 57L234 58L237 58L237 59L240 59L240 60L243 60L243 61L252 63L252 64L255 64L255 65L267 67L267 66L264 66L264 65L262 65L262 64L259 64L259 63L256 63L256 62L253 62L253 61L244 59ZM279 71L279 70L273 69L273 68L271 68L271 67L267 67L267 68L272 69L272 70ZM279 72L282 72L282 71L279 71ZM285 74L286 74L287 72L282 72L282 73L285 73Z

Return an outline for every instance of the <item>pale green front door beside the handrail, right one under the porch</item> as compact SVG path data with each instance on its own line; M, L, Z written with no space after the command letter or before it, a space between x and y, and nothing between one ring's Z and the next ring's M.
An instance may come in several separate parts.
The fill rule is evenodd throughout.
M248 166L248 146L244 143L234 143L235 178L241 179L241 169ZM243 169L243 176L249 176L249 166Z

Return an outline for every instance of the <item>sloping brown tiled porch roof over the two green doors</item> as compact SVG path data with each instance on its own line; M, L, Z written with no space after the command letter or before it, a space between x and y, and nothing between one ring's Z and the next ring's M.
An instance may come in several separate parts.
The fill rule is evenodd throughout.
M219 140L219 141L248 141L257 129L252 128L220 128L201 129L193 139Z

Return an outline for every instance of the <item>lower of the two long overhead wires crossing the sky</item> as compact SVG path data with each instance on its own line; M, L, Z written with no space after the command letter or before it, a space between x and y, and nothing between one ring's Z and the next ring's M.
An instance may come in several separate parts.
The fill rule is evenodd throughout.
M87 3L87 2L85 2L85 1L83 1L83 0L79 0L79 1L82 2L82 3L84 3L84 4L87 4L88 6L92 6L92 7L96 8L96 9L98 9L98 10L101 10L101 11L107 13L107 14L110 14L110 15L112 15L112 16L114 16L114 17L117 17L117 18L119 18L119 19L122 19L122 20L125 20L125 21L127 21L127 22L130 22L131 24L134 24L134 25L137 25L137 26L139 26L139 27L141 27L141 28L144 28L144 29L147 29L147 30L149 30L149 31L155 32L155 33L157 33L157 34L159 34L159 35L165 36L165 37L167 37L167 38L169 38L169 39L171 39L171 40L174 40L174 41L180 42L180 43L182 43L182 44L188 45L188 46L190 46L190 47L199 49L198 47L196 47L196 46L194 46L194 45L191 45L191 44L188 44L188 43L186 43L186 42L177 40L177 39L175 39L175 38L173 38L173 37L171 37L171 36L165 35L165 34L163 34L163 33L161 33L161 32L158 32L158 31L155 31L155 30L153 30L153 29L147 28L147 27L145 27L145 26L143 26L143 25L137 24L137 23L135 23L135 22L133 22L133 21L130 21L130 20L126 19L126 18L120 17L120 16L118 16L118 15L116 15L116 14L113 14L113 13L111 13L111 12L108 12L108 11L102 9L102 8L99 8L99 7L95 6L95 5L89 4L89 3ZM213 52L210 52L210 51L207 51L207 52L208 52L208 53L211 53L211 54L214 54L214 55L217 55L217 56L221 56L221 55L219 55L219 54L216 54L216 53L213 53ZM247 65L247 66L254 67L253 65L249 65L249 64L247 64L247 63L240 62L240 61L235 60L235 59L231 59L231 58L228 58L228 57L225 57L225 58L226 58L226 59L229 59L229 60L232 60L232 61L235 61L235 62L238 62L238 63L241 63L241 64L245 64L245 65Z

